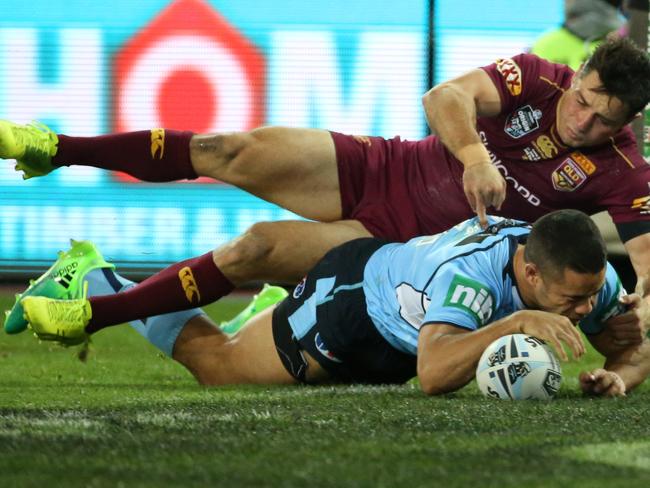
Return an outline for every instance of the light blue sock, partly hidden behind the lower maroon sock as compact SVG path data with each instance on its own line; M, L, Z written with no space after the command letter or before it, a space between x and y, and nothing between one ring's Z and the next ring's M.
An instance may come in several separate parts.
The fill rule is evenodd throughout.
M135 286L133 281L127 280L109 268L100 268L90 271L85 279L88 281L88 296L113 295ZM148 317L144 320L129 322L140 335L164 352L172 355L174 344L185 324L193 317L203 314L200 308L172 312L164 315Z

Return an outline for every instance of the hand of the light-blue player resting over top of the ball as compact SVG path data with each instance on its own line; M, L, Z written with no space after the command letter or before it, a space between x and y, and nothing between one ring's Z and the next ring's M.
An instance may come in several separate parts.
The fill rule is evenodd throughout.
M568 361L567 355L562 343L566 344L574 358L582 356L586 349L580 332L576 326L563 315L541 310L520 310L515 312L512 317L517 320L519 330L522 334L528 334L542 339L550 345L560 359Z

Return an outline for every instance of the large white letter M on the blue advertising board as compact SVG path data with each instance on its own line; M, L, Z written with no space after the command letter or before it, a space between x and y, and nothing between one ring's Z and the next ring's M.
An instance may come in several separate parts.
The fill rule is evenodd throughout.
M422 137L420 97L425 87L420 36L361 34L346 90L333 33L274 32L269 59L270 123Z

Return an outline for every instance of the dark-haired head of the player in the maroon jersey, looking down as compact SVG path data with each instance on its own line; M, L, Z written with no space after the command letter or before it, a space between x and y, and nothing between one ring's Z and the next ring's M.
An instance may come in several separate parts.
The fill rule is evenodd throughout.
M650 58L627 38L594 51L562 95L557 129L572 147L606 142L650 101Z

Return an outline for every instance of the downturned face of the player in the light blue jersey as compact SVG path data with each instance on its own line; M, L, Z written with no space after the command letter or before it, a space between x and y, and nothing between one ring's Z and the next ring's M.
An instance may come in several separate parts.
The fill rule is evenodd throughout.
M544 279L539 276L535 298L541 310L564 315L577 323L596 305L598 292L605 284L605 269L600 273L578 273L564 270L564 276Z

